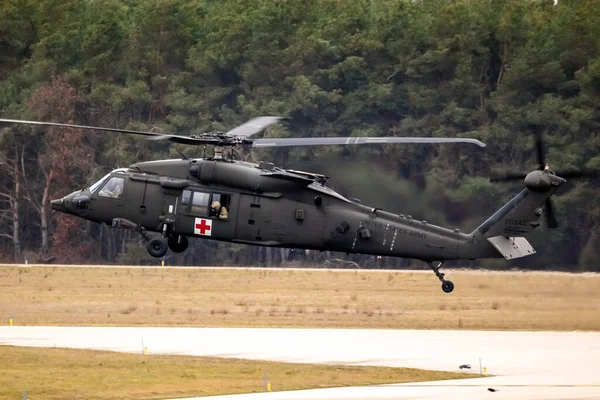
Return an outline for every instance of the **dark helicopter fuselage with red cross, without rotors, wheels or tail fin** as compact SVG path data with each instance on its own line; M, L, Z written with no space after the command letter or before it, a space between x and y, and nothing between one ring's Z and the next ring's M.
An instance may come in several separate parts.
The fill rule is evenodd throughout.
M54 201L53 208L109 225L126 220L167 235L426 261L469 258L473 241L458 230L351 201L326 186L322 175L270 163L136 163Z

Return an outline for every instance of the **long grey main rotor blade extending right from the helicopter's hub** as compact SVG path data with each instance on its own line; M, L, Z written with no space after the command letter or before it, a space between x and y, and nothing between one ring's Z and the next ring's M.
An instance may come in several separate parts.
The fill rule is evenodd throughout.
M389 143L471 143L485 147L485 143L470 138L430 138L430 137L321 137L321 138L265 138L254 139L251 147L285 147L285 146L325 146L354 144L389 144Z

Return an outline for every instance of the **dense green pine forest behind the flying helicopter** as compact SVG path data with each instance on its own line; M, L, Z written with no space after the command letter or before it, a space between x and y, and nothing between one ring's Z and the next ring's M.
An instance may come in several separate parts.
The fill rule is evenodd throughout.
M253 150L364 204L470 231L523 187L494 171L600 169L596 0L2 0L0 118L190 135L260 115L266 133L473 137L487 144ZM0 125L0 262L154 264L139 235L50 210L117 167L202 149ZM553 197L521 260L600 271L600 177ZM341 260L341 261L336 261ZM167 265L422 268L416 260L192 240Z

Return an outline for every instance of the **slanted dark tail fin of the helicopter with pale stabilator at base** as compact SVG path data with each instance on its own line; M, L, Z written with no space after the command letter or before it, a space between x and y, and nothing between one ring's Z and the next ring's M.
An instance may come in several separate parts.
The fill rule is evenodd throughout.
M470 236L485 238L472 250L475 258L490 257L489 244L506 259L534 254L535 250L525 239L540 225L542 206L566 180L549 169L533 171L525 178L526 189L517 194L494 215L475 229Z

